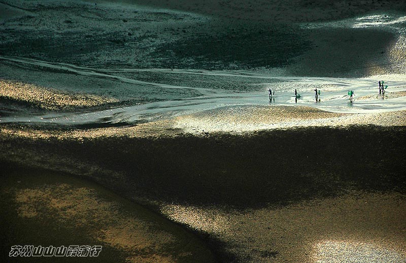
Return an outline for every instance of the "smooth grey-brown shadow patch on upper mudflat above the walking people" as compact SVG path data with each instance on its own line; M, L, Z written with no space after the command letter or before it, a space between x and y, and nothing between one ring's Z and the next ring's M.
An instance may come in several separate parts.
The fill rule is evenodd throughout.
M312 49L296 58L289 72L297 76L352 78L392 72L389 57L397 37L373 28L319 28L306 31Z

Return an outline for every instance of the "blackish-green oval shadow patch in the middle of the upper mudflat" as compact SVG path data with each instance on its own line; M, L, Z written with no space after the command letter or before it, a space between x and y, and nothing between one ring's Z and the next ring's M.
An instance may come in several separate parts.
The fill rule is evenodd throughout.
M310 42L291 25L216 22L212 32L157 48L164 67L232 69L281 67L306 51Z

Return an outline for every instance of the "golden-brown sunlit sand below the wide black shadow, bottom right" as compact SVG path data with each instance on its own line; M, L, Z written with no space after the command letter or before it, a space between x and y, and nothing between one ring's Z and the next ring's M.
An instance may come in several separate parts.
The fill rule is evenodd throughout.
M354 192L247 210L164 205L161 211L229 244L225 249L246 262L406 260L406 196L400 194Z

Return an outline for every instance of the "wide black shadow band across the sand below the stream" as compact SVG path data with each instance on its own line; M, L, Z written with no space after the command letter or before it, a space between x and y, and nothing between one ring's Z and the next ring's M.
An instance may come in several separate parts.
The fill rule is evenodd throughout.
M249 208L285 205L352 190L405 193L404 127L354 126L175 138L4 139L46 151L46 163L80 160L76 171L130 199ZM5 157L6 156L6 157ZM47 155L49 156L49 155ZM67 158L66 158L67 157ZM26 163L29 163L27 160ZM38 163L37 163L38 165ZM69 164L72 165L72 164ZM116 171L113 178L104 171Z

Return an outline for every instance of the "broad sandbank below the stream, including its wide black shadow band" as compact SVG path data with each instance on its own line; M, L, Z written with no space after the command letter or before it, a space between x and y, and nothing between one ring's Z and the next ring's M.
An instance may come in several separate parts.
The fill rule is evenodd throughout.
M180 117L212 120L211 131L174 128L177 118L89 130L3 126L1 159L10 170L90 178L199 233L220 261L404 260L404 111L276 108L284 118L247 107L252 119L233 127L301 125L221 131L216 118L234 112L224 108ZM313 119L321 125L306 124Z

